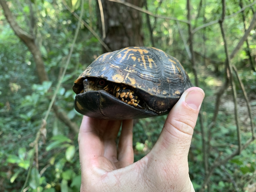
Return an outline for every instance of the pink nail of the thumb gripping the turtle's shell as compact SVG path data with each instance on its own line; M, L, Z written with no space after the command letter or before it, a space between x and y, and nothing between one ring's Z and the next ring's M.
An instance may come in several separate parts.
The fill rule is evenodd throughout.
M185 102L191 108L197 110L204 99L203 93L199 89L191 90L188 92Z

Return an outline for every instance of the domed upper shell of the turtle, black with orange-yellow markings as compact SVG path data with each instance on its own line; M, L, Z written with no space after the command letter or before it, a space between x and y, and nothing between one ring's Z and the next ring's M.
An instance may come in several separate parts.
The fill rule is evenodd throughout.
M75 81L74 91L86 77L127 85L157 111L171 108L172 101L193 87L179 61L153 47L127 47L99 56Z

